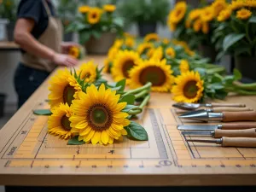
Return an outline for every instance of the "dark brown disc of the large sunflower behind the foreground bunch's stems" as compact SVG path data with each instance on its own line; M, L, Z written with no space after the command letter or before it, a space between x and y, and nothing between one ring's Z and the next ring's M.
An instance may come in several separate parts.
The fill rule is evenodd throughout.
M159 67L147 67L140 75L140 82L142 84L151 82L153 86L160 86L166 82L166 74Z

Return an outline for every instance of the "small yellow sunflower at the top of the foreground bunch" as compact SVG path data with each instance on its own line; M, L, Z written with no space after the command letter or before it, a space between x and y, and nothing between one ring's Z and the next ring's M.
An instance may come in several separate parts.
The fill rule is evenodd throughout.
M97 66L94 64L94 62L89 61L87 63L83 63L77 73L80 75L81 80L91 84L96 81L96 68Z

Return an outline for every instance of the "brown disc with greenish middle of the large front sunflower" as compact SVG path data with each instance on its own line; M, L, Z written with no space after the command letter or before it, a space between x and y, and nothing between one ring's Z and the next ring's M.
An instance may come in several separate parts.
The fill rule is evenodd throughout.
M112 123L111 112L102 104L92 106L89 109L90 126L96 130L106 130Z

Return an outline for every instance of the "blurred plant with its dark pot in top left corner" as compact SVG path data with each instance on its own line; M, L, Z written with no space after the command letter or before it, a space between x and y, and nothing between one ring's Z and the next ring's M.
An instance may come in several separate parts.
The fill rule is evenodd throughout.
M0 17L9 20L7 24L7 36L9 41L14 41L14 30L16 21L16 0L3 0L0 3Z

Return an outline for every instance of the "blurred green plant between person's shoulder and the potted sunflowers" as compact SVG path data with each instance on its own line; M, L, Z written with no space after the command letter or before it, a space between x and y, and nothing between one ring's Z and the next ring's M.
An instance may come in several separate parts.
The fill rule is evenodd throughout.
M57 11L64 26L64 41L72 41L73 32L67 32L67 26L73 21L73 13L78 9L78 3L69 0L61 0L58 3Z

